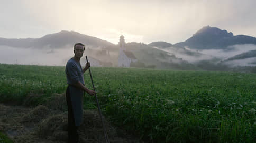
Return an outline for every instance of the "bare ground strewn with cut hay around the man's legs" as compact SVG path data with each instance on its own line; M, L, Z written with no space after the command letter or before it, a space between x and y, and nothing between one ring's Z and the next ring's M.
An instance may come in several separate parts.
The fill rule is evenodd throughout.
M31 97L30 97L31 99ZM28 101L28 100L27 100ZM66 142L67 105L65 94L55 94L46 105L34 108L0 104L0 131L14 142ZM102 123L96 110L84 110L83 124L79 127L81 142L105 142ZM141 142L131 135L120 136L103 117L109 141ZM118 135L119 134L119 135Z

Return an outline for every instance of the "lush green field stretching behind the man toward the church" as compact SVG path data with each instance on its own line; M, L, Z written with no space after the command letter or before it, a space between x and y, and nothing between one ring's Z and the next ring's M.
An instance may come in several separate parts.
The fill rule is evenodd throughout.
M92 67L108 121L145 142L254 142L256 74ZM92 89L88 71L85 84ZM65 67L0 64L1 103L43 104L67 87ZM96 109L86 94L85 109Z

